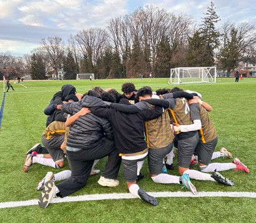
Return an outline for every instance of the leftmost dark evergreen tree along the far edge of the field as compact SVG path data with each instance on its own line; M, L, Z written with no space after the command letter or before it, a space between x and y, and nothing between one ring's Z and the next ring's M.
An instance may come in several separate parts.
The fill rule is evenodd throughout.
M46 79L45 65L41 56L33 54L31 56L31 78L33 80Z

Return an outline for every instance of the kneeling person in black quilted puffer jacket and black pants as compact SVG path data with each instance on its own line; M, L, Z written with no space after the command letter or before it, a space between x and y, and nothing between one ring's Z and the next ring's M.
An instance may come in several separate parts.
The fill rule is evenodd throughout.
M96 92L90 91L94 96L100 97ZM75 114L82 109L81 101L63 104L62 109L68 114ZM95 101L95 105L97 101ZM118 186L116 180L120 169L121 159L116 151L113 129L110 121L94 114L80 116L71 125L66 144L67 158L72 176L57 186L53 181L45 183L43 192L39 196L38 204L45 208L56 194L58 197L66 197L83 188L90 177L91 168L95 159L108 156L103 177L105 186ZM46 192L48 192L46 194Z

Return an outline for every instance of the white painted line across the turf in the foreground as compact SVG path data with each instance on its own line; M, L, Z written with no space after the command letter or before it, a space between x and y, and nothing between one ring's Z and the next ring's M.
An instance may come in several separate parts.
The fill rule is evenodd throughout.
M148 192L153 197L248 197L256 198L256 192L199 192L193 195L191 192ZM130 193L126 194L90 194L82 196L54 198L51 203L76 202L76 201L100 201L107 199L134 199ZM6 207L23 207L38 205L38 200L0 202L0 209Z

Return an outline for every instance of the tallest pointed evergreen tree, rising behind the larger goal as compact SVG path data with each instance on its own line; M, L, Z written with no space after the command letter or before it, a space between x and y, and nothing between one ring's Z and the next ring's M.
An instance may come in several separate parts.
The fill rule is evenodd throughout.
M219 32L215 28L215 23L220 21L220 17L217 16L215 12L216 7L214 7L213 2L211 2L210 7L207 7L207 12L204 13L206 17L203 17L203 24L200 28L200 38L205 43L205 48L207 49L207 56L203 58L203 66L213 66L215 49L219 46Z

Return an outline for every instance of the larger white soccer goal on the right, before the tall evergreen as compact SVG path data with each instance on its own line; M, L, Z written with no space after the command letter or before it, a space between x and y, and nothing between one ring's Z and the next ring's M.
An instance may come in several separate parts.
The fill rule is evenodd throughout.
M177 67L171 69L169 84L216 82L216 67Z

